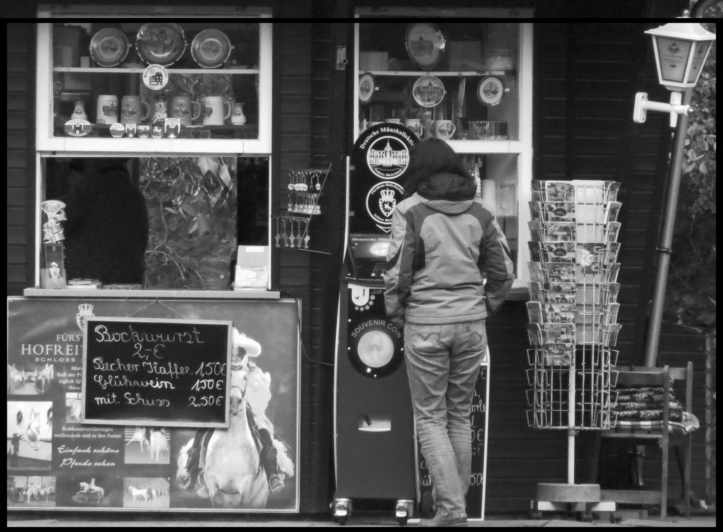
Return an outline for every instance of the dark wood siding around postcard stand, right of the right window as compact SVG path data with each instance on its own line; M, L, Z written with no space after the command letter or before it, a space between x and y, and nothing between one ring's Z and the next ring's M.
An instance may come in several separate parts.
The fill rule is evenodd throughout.
M641 363L657 232L664 116L633 124L639 90L664 101L647 29L641 24L543 23L534 26L534 179L620 181L622 283L617 348ZM554 51L554 53L553 53ZM490 371L487 511L529 509L538 482L567 478L565 431L527 426L524 369L529 347L523 304L509 301L489 319ZM701 368L702 369L702 368ZM588 480L589 435L577 439L576 481Z

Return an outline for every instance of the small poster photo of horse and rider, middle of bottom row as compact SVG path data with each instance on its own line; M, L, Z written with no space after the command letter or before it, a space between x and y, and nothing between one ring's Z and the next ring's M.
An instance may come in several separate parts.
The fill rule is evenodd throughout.
M57 506L122 507L123 479L118 475L58 473Z

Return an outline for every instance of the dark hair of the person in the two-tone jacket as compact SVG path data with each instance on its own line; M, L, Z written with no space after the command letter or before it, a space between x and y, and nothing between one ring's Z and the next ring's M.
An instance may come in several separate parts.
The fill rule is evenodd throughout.
M444 140L435 138L420 140L411 147L406 173L404 197L417 192L419 185L437 173L455 173L471 183L474 182L450 145Z

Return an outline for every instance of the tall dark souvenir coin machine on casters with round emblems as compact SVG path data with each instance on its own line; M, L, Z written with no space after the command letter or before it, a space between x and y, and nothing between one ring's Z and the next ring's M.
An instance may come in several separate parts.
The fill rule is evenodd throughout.
M395 499L401 525L414 511L414 413L403 331L385 313L384 273L392 213L416 141L400 124L372 126L356 140L347 170L334 392L333 515L340 524L353 499Z

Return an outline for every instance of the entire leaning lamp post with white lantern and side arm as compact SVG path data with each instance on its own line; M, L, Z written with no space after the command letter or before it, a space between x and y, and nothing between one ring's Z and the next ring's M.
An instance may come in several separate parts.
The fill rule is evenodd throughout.
M675 127L663 228L659 244L656 247L658 257L655 287L645 351L645 365L654 367L658 356L665 287L670 263L670 246L675 228L680 173L683 168L685 137L688 135L690 93L698 82L698 77L703 69L703 64L708 59L711 44L716 40L716 35L696 22L672 22L653 30L647 30L645 33L653 38L658 81L671 91L670 103L651 102L648 100L647 93L637 93L633 121L642 124L646 120L647 111L662 111L670 113L670 126Z

